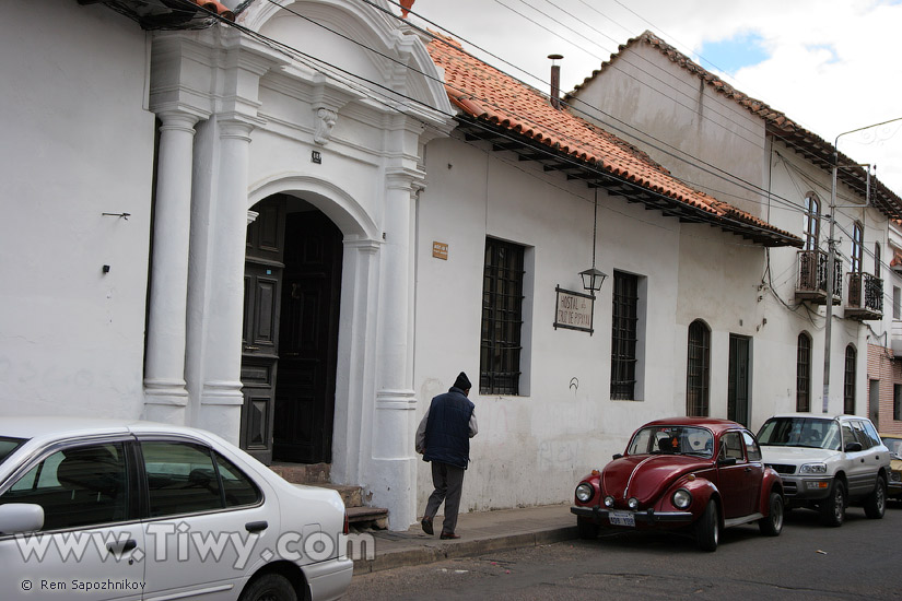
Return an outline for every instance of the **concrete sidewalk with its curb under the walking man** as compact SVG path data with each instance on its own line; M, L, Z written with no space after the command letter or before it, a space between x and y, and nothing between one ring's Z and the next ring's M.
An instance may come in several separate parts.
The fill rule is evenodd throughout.
M440 514L435 518L433 537L423 532L419 523L402 532L368 531L375 538L376 554L372 559L355 559L354 574L537 546L577 537L576 518L570 512L570 505L460 514L457 519L460 539L453 541L438 539L441 530Z

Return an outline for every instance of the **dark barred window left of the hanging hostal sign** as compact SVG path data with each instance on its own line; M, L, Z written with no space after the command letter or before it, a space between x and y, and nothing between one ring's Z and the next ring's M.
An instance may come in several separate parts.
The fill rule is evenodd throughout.
M482 278L481 394L519 394L524 247L485 238Z

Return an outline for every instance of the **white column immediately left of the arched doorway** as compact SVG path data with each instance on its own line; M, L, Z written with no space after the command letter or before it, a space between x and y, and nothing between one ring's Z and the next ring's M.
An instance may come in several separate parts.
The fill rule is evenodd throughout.
M241 427L247 169L254 125L219 121L220 166L209 263L199 426L237 443Z

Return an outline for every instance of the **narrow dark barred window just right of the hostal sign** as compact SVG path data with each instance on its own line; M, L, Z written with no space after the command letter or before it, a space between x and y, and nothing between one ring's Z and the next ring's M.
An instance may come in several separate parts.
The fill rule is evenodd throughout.
M635 398L639 278L613 272L611 315L611 399Z

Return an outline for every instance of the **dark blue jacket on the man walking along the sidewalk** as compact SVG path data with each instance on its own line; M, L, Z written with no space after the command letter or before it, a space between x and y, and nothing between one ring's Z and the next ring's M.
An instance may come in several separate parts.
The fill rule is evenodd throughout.
M467 469L473 406L464 391L454 387L432 399L426 420L426 452L423 453L423 461L440 461Z

